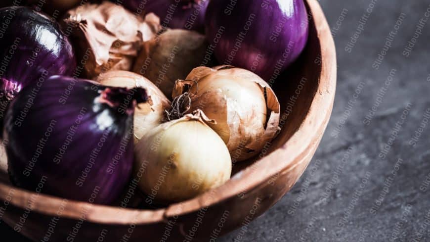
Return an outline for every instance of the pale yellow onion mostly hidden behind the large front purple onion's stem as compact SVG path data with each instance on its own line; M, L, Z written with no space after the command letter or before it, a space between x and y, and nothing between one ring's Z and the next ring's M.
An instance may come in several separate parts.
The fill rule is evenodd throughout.
M164 121L165 110L171 102L151 81L129 71L108 71L97 77L104 86L120 88L144 88L149 99L137 104L134 110L134 143L137 143L149 130Z

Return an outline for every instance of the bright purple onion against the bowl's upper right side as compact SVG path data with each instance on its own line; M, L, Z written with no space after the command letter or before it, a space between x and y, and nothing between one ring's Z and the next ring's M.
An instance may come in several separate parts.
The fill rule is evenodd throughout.
M298 58L308 37L303 0L214 0L205 26L220 63L251 70L269 83Z

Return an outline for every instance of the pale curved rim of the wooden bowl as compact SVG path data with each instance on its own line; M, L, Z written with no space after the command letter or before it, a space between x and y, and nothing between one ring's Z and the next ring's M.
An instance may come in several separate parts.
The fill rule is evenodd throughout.
M0 200L8 200L15 207L25 208L33 200L32 211L47 216L58 216L58 207L64 206L60 217L79 220L82 211L86 211L86 221L100 224L135 225L151 224L166 221L174 216L182 216L232 198L244 191L252 191L264 185L267 180L276 175L284 174L301 163L293 161L305 160L303 157L312 156L314 149L324 133L331 115L336 89L336 50L333 37L317 0L305 0L308 11L312 14L316 34L321 48L321 75L318 88L310 104L309 110L301 122L299 129L281 147L259 159L254 164L235 174L224 185L201 194L195 198L173 203L166 208L155 210L133 209L116 206L91 204L83 201L68 200L64 206L64 198L47 194L37 194L22 190L0 182ZM321 113L326 113L322 116ZM310 134L310 135L309 135ZM307 144L307 145L301 145ZM285 159L283 157L290 157ZM240 179L248 177L252 179ZM10 191L14 191L9 199ZM34 196L39 199L34 199ZM118 216L121 214L121 216Z

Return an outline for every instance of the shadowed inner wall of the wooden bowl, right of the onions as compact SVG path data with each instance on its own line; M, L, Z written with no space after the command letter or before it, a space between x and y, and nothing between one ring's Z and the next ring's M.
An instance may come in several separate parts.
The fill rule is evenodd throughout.
M306 3L307 9L309 9ZM308 10L309 11L309 10ZM286 51L280 49L279 51ZM288 50L287 50L288 51ZM283 71L271 85L278 97L280 108L281 131L271 144L258 155L233 165L232 177L250 168L264 156L285 145L303 123L309 107L318 90L321 76L321 46L313 19L309 20L308 42L298 59ZM267 80L266 80L267 81ZM145 195L142 194L144 197ZM143 199L144 200L144 199ZM169 204L174 205L174 203ZM140 204L141 209L155 209L169 206L167 204Z

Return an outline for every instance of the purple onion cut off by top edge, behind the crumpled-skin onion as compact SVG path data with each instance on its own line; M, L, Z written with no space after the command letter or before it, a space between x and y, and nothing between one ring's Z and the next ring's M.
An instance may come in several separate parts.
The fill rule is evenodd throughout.
M115 0L137 14L155 13L163 27L203 32L209 0Z

